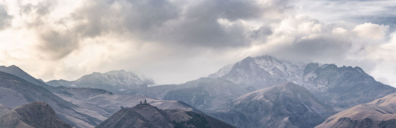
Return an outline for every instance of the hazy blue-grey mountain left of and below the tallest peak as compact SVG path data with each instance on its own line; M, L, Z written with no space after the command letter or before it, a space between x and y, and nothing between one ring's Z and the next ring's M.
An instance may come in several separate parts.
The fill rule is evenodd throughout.
M181 85L159 85L125 90L121 94L140 94L163 100L178 100L199 110L223 110L235 98L249 92L221 78L199 78Z

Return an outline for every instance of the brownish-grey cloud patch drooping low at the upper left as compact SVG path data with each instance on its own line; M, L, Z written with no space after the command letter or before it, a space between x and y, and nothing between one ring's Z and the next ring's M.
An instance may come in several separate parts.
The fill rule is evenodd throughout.
M19 15L31 17L25 21L25 26L36 30L40 44L37 48L42 51L41 57L58 60L79 47L78 33L66 29L57 29L54 25L63 24L63 21L49 22L49 14L57 5L56 0L41 1L38 4L18 3Z

